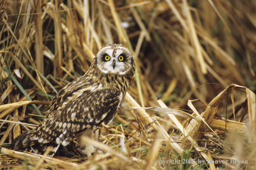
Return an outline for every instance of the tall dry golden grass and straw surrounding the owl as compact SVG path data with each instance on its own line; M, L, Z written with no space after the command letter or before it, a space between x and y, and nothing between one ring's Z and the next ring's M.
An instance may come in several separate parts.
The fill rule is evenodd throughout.
M255 0L1 0L0 12L0 169L255 170ZM76 140L53 158L9 150L107 43L137 70L113 123L85 138L104 154Z

